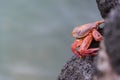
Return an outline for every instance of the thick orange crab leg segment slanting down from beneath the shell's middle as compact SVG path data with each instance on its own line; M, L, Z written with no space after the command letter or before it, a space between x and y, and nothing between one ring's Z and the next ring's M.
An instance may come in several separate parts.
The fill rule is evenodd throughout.
M85 51L88 49L88 47L90 46L91 42L92 42L93 36L92 33L89 33L88 36L86 36L83 39L83 42L80 46L80 48L78 49L78 52L80 52L80 54L84 54Z

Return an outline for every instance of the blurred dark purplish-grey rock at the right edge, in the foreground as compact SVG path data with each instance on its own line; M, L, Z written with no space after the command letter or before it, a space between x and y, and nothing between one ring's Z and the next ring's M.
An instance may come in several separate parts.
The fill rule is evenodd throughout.
M104 27L106 51L113 70L120 74L120 6L111 11Z

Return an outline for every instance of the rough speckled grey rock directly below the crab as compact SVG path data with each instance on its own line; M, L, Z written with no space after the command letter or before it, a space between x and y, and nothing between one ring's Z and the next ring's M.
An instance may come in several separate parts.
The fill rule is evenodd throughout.
M96 57L78 58L73 56L65 64L58 80L93 80L96 73Z

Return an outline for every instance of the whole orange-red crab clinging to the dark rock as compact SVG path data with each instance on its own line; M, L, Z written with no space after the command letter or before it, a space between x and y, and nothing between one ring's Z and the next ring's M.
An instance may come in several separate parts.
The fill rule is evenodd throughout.
M99 48L88 48L93 38L96 41L101 41L103 39L103 36L97 31L99 25L103 22L104 20L96 21L93 23L78 26L73 29L72 36L76 39L71 45L71 50L75 55L79 57L95 55L94 52L97 52Z

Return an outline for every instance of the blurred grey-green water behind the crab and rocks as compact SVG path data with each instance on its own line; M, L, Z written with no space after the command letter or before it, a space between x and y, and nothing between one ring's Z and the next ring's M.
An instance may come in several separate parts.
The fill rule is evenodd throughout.
M72 29L99 19L95 0L0 0L0 80L56 80Z

